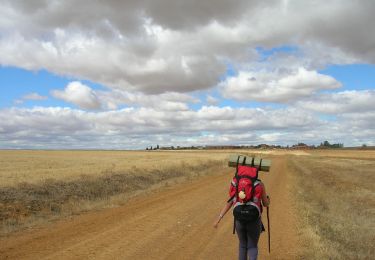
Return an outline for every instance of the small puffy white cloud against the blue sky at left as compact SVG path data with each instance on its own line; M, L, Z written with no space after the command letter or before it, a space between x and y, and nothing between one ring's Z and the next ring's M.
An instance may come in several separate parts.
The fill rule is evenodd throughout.
M79 81L70 82L63 91L53 90L51 94L55 98L83 109L99 109L101 107L96 92Z

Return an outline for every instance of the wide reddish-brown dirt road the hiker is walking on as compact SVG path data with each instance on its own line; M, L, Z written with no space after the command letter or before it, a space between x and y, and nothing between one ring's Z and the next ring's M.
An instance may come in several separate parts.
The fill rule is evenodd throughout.
M227 199L233 169L134 199L126 205L63 220L0 240L1 259L236 259L237 237L227 214L213 221ZM298 241L285 160L261 175L271 203L272 252L267 233L260 259L297 259ZM265 219L265 215L264 215ZM266 219L265 219L266 220ZM265 221L265 223L267 223Z

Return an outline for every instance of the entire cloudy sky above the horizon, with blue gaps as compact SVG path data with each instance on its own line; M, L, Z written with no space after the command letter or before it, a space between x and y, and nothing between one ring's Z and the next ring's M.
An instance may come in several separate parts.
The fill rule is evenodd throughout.
M0 149L375 145L375 1L0 6Z

